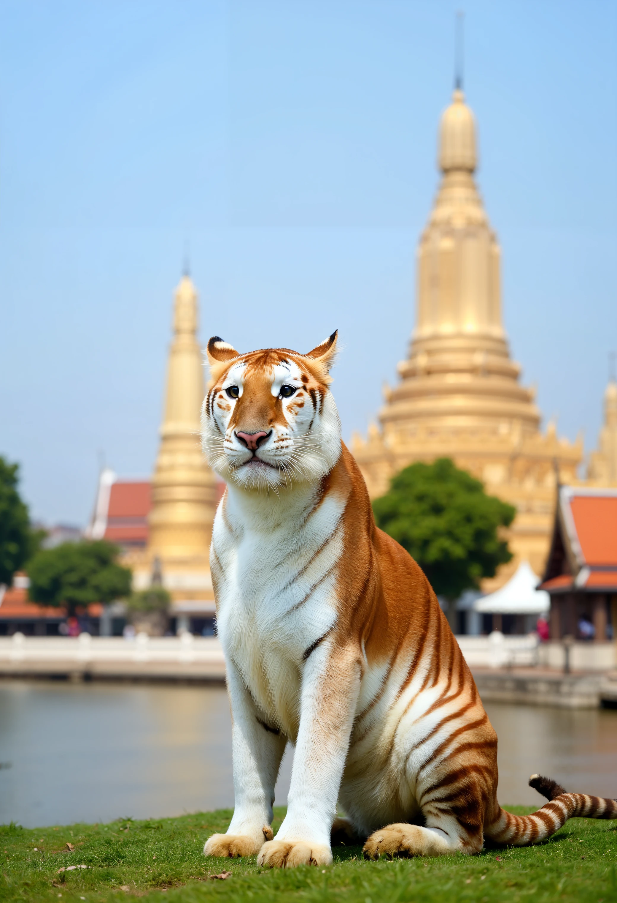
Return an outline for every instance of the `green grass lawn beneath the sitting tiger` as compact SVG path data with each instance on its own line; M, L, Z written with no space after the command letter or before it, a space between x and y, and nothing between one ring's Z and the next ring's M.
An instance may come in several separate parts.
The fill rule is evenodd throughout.
M523 815L530 809L511 807ZM272 827L281 824L277 809ZM617 903L617 823L572 819L535 847L479 856L364 861L360 847L336 847L326 870L258 869L256 857L205 859L209 834L231 811L160 821L121 820L26 830L0 827L0 900L495 901ZM67 844L73 845L70 852ZM69 866L86 865L86 869ZM61 870L64 869L64 870ZM213 875L231 871L226 880Z

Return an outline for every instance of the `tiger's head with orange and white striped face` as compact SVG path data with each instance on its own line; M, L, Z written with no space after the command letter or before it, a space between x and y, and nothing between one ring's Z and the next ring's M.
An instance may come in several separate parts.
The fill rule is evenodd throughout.
M244 489L317 483L341 454L341 425L328 386L336 332L308 354L268 348L240 354L207 343L210 381L202 444L213 470Z

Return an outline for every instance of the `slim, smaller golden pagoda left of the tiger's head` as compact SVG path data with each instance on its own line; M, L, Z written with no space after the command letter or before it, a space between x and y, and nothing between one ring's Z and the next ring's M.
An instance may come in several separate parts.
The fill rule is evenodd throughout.
M208 563L216 510L216 478L201 452L199 413L204 368L197 339L198 294L183 275L174 296L161 446L152 477L148 546L135 585L161 573L174 613L214 611Z

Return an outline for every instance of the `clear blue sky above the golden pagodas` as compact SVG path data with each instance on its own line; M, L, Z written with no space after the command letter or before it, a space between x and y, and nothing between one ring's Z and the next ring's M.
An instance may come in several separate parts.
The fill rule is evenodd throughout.
M413 325L458 5L0 3L0 453L34 517L86 523L98 452L151 472L186 241L202 339L338 328L365 431ZM589 451L617 350L617 5L466 3L465 92L513 356Z

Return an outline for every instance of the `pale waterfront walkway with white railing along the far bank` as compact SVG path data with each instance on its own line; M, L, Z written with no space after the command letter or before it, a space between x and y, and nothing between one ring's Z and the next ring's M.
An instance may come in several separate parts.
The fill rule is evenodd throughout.
M597 708L617 705L615 645L576 643L564 673L561 644L533 637L458 637L485 702ZM579 648L580 647L580 648ZM586 665L586 667L585 667ZM594 667L595 666L595 667ZM215 637L0 637L0 677L225 682Z

